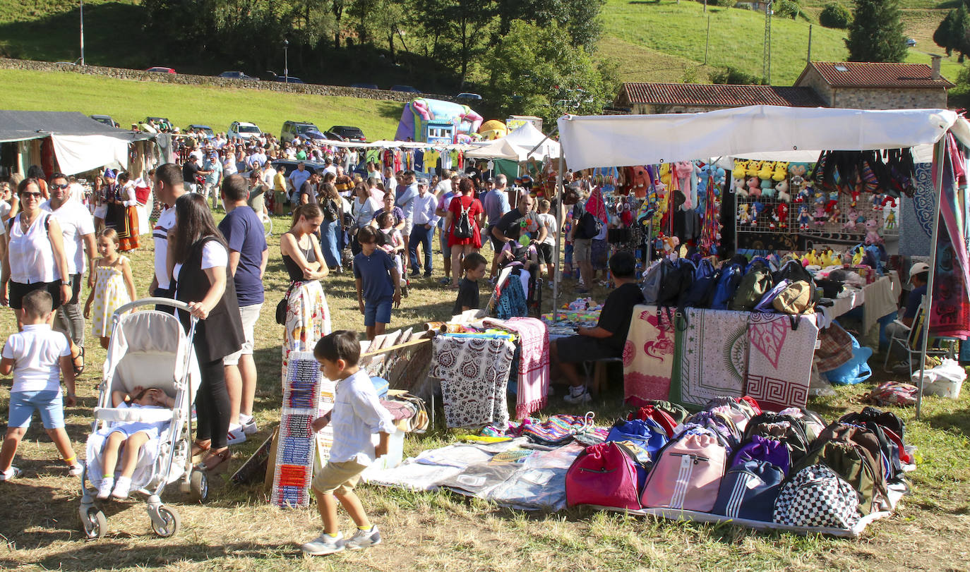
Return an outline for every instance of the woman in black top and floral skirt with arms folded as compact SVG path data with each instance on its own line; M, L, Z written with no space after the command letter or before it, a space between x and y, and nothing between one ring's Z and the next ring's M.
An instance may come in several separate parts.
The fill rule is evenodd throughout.
M315 234L323 224L320 207L307 203L293 209L293 224L279 238L283 267L290 278L286 290L283 331L283 379L290 352L311 352L316 341L330 334L330 308L320 278L330 270L321 264L323 253Z

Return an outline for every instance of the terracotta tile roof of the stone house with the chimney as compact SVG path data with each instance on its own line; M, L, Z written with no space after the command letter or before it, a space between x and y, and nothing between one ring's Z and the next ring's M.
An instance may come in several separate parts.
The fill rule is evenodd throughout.
M892 64L877 62L812 62L824 80L833 87L953 87L946 78L933 79L933 69L926 64ZM808 66L795 85L805 77Z

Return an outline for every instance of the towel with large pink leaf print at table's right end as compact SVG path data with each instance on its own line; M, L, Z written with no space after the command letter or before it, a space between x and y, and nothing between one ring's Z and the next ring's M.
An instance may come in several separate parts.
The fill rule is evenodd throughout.
M748 318L748 383L745 395L762 409L780 411L804 407L812 375L812 357L819 329L815 315L792 316L752 312Z

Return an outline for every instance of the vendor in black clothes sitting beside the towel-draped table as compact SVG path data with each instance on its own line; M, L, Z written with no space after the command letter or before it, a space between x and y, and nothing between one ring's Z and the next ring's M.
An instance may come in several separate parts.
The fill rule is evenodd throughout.
M623 346L630 330L633 306L643 303L643 294L636 284L636 259L629 252L618 252L609 259L609 270L616 288L606 298L595 328L578 328L577 335L553 340L549 344L553 364L558 364L571 386L566 403L586 403L592 400L576 371L576 364L596 362L623 356Z

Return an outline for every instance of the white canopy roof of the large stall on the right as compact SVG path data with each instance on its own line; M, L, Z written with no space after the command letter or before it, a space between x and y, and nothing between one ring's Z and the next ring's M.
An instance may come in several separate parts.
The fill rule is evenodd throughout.
M560 142L572 170L775 151L912 147L936 143L949 130L970 145L970 124L948 110L752 106L703 113L559 118Z

